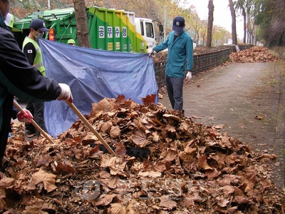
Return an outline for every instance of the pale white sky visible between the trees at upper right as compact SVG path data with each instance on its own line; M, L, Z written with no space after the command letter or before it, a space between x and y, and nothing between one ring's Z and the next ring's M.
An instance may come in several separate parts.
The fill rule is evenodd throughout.
M208 19L208 0L187 0L189 6L194 5L200 19ZM229 0L214 0L214 25L222 26L232 32L232 16L229 11ZM187 5L188 6L188 5ZM237 14L237 37L244 35L242 16Z

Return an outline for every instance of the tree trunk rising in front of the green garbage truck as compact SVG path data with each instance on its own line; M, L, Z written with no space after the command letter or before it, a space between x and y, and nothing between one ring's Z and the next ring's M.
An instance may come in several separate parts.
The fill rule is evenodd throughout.
M76 14L76 31L77 31L78 45L81 47L91 48L89 34L88 34L85 1L73 0L73 4Z

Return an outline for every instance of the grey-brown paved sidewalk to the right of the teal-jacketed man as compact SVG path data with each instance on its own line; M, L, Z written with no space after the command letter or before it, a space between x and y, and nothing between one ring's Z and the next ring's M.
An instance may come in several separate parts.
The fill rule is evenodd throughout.
M183 90L185 116L207 126L224 125L221 133L256 152L277 154L274 181L285 185L284 65L231 63L195 75ZM171 109L167 93L159 102Z

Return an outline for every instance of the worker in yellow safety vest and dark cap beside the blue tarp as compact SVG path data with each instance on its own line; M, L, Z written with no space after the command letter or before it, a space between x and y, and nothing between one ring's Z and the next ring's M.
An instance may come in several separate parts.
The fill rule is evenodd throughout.
M28 62L36 66L38 71L41 72L43 76L46 76L46 68L43 66L43 58L41 55L41 49L38 45L38 40L43 37L43 34L48 31L44 24L44 21L41 19L34 19L31 21L29 34L26 36L23 42L23 52L26 54L28 58ZM46 133L46 124L44 121L43 111L44 111L44 103L27 103L26 109L30 111L33 115L34 121L38 123L38 126L43 129ZM28 136L33 136L37 134L38 136L40 133L33 124L26 123L25 134Z

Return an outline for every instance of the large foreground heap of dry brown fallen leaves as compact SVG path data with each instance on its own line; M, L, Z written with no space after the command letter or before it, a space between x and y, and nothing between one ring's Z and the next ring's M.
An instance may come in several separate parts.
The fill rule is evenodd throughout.
M3 213L282 213L271 181L275 155L217 128L194 123L165 106L123 96L93 103L88 121L116 156L81 121L54 143L24 141L14 124L1 174ZM20 130L20 131L19 131ZM95 148L90 146L93 143ZM145 158L127 148L149 150Z

